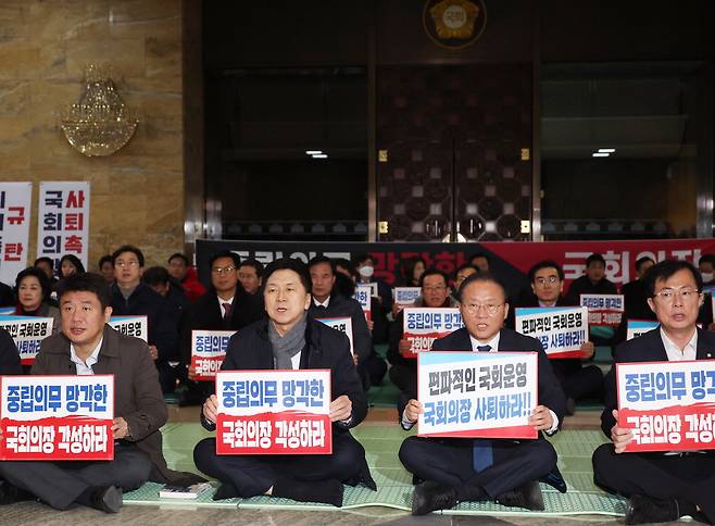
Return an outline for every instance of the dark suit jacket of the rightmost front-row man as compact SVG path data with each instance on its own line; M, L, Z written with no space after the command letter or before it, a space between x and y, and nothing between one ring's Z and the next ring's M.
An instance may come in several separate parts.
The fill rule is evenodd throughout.
M698 330L698 349L695 360L712 360L715 358L715 334L710 330ZM649 330L644 335L624 341L614 351L615 363L634 362L667 362L668 354L663 346L661 328ZM616 365L611 367L604 380L605 409L601 414L601 429L606 437L611 438L611 428L616 419L613 410L618 408L618 392L616 390Z

